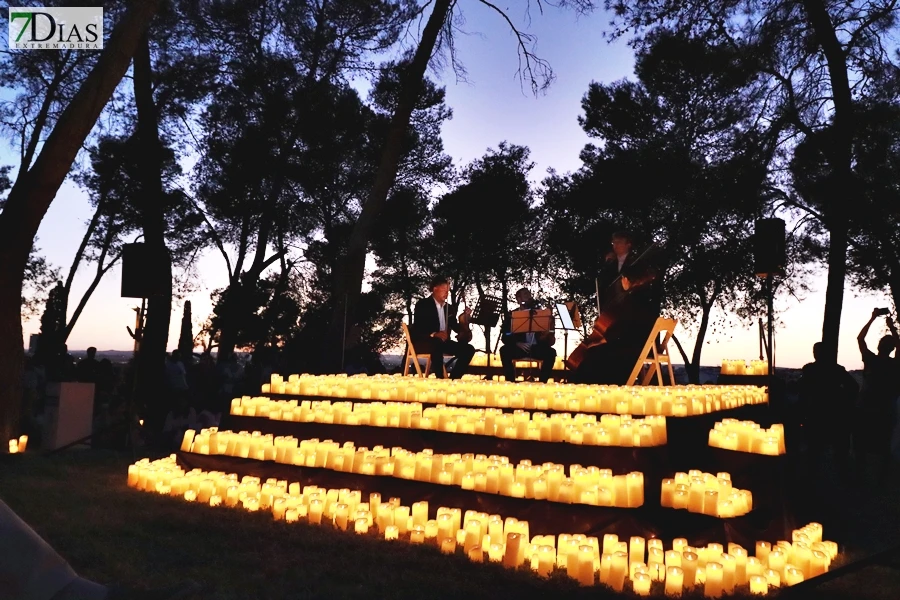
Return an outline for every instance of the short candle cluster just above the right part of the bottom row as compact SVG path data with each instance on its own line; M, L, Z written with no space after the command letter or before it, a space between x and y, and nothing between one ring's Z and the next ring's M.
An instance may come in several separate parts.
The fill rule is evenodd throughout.
M753 495L735 488L729 473L712 475L692 470L663 479L660 504L720 519L745 515L753 509Z

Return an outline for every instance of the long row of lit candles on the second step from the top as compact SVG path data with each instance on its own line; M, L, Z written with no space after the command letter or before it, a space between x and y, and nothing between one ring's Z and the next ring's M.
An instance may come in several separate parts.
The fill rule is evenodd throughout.
M666 418L631 415L554 413L499 408L434 406L418 402L334 402L329 400L271 400L242 397L231 401L231 414L275 421L368 425L428 429L488 435L506 439L566 442L585 446L661 446L666 443Z

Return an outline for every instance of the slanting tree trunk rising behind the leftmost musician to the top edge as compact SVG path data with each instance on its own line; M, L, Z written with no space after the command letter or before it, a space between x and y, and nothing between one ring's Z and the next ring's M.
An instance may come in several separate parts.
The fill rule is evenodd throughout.
M422 39L416 49L412 62L406 69L400 97L394 108L390 129L381 154L381 164L375 175L375 182L359 218L353 226L346 254L341 260L340 268L334 272L334 312L331 318L328 339L325 340L324 370L338 372L341 364L341 341L343 340L344 314L353 313L353 307L362 291L363 277L366 270L366 252L371 238L375 220L384 208L388 192L397 178L397 166L403 140L409 128L409 119L419 98L422 81L428 62L434 52L438 35L447 21L453 0L435 0L434 10L422 33Z

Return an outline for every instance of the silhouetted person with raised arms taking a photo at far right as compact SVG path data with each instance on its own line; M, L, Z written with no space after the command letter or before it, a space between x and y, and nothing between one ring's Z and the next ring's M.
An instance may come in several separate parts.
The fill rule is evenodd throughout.
M885 317L891 333L878 340L878 354L875 354L866 345L866 335L879 316ZM863 386L853 450L860 475L865 467L866 455L875 454L880 462L879 475L883 480L890 469L891 436L897 421L897 396L900 395L900 353L892 357L891 352L900 346L900 336L887 310L875 309L856 340L863 359Z

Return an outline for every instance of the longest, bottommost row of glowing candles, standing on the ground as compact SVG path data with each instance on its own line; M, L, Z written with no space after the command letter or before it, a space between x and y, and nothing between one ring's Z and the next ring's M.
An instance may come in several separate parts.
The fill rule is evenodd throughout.
M240 504L248 511L268 510L276 520L289 523L330 523L343 531L352 525L358 534L377 530L386 540L432 543L445 553L461 550L477 562L487 554L491 561L510 568L526 565L543 576L560 569L582 585L599 580L623 591L630 581L640 596L650 595L652 582L663 582L666 595L702 587L705 597L718 598L742 586L763 595L770 588L795 585L826 572L838 551L835 543L822 541L822 526L817 523L792 532L792 542L758 541L755 556L734 543L727 550L717 543L695 548L684 538L673 540L670 550L659 539L631 537L626 542L615 534L604 535L602 545L599 538L583 534L529 538L527 521L448 507L437 508L436 518L429 519L428 502L402 506L399 498L382 502L380 494L371 493L364 503L361 492L349 489L301 490L299 483L286 480L263 483L245 476L238 482L236 474L199 469L185 473L174 455L129 466L128 485L210 506Z

